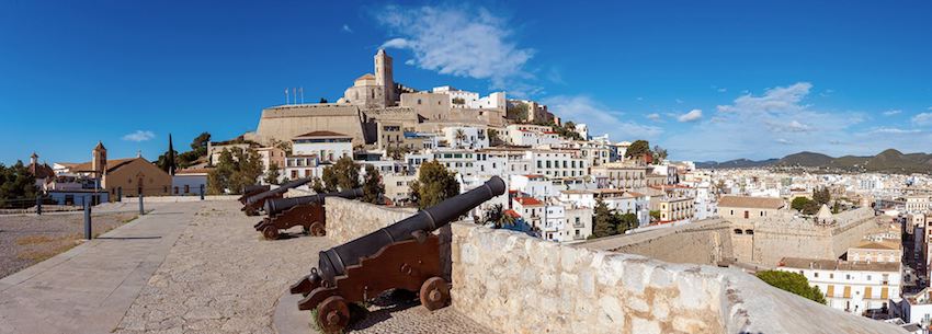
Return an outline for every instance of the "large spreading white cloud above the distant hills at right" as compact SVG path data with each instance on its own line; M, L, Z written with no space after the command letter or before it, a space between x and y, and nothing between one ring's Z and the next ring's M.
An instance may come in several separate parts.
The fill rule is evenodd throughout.
M797 82L766 89L763 94L741 94L731 104L717 106L714 114L704 115L701 126L671 131L660 145L673 159L700 161L780 158L795 153L802 143L806 150L828 154L875 149L841 142L882 145L879 140L852 138L851 127L862 122L862 114L820 111L807 104L811 89L808 82Z

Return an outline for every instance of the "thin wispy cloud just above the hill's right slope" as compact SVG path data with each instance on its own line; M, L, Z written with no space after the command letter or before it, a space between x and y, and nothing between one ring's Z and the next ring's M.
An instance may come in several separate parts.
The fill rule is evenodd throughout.
M660 127L625 119L622 112L613 111L589 96L558 95L544 99L542 102L560 118L586 123L589 125L590 134L609 134L612 140L651 139L663 133Z

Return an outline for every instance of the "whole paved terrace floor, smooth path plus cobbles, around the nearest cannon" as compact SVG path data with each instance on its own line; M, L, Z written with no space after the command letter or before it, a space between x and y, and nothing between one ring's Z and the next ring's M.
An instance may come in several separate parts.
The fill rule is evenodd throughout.
M0 334L312 332L310 312L279 299L331 242L299 228L295 238L263 240L252 229L260 218L239 208L154 206L106 234L127 239L95 240L0 280ZM276 308L293 312L291 330L273 324ZM416 303L372 307L351 332L489 333L452 308Z

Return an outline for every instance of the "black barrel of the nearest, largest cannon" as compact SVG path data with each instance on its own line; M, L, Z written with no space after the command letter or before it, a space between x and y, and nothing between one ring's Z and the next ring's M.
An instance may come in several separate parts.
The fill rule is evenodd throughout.
M320 276L330 284L336 284L334 278L343 275L348 266L359 264L360 258L372 256L393 242L412 239L414 231L432 232L466 215L486 200L504 194L504 181L498 176L492 176L491 180L475 189L447 198L436 206L423 209L414 216L405 218L378 231L320 252L318 263Z

